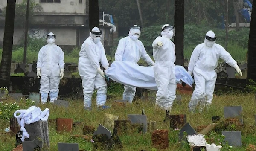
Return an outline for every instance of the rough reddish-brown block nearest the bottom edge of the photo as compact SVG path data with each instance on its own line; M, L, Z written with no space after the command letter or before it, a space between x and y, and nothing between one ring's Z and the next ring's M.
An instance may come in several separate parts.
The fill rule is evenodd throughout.
M168 130L155 130L151 135L152 145L158 149L169 147Z

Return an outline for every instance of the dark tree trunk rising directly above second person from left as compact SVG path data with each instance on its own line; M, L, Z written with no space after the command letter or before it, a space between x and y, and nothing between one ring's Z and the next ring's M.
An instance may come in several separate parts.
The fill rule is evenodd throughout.
M89 0L89 28L99 28L99 0Z

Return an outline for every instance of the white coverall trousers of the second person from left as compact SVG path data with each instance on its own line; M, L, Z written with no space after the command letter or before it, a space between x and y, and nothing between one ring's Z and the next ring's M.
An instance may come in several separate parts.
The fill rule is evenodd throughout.
M79 58L79 75L82 79L84 92L84 107L91 107L94 88L97 89L96 105L105 105L107 99L107 83L88 58Z

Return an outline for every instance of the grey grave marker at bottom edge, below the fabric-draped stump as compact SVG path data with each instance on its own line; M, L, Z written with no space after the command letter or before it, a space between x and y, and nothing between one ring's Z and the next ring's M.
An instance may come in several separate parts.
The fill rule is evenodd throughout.
M42 151L42 141L24 141L22 142L23 151Z

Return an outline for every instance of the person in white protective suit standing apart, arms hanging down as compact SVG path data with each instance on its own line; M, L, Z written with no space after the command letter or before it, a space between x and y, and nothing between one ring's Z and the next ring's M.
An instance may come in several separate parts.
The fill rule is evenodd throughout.
M50 32L47 35L47 45L38 53L37 76L40 79L41 103L47 102L48 93L50 103L58 99L59 84L64 76L64 52L55 44L56 36Z

